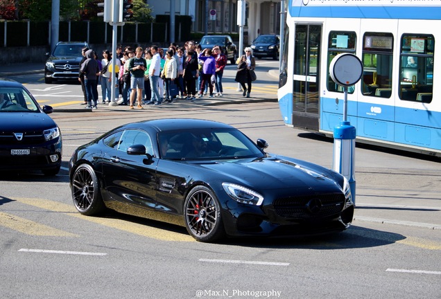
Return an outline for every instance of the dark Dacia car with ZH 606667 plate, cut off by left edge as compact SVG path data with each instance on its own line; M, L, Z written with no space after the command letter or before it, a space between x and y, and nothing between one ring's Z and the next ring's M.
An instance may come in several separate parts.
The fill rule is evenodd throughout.
M0 172L38 170L46 175L60 171L60 128L22 84L0 78Z

